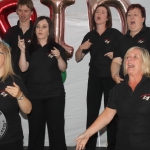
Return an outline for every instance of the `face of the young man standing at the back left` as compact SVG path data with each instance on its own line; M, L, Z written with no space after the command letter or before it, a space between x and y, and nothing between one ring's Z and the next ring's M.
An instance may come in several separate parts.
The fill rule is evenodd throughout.
M30 17L33 13L33 11L31 11L31 9L28 8L26 5L19 5L16 12L21 22L30 21Z

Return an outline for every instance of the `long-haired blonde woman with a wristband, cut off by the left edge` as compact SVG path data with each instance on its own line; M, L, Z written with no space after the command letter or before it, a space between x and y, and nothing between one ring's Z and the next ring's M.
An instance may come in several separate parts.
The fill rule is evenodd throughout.
M19 108L30 113L27 95L23 81L12 69L9 46L0 42L0 150L23 150Z

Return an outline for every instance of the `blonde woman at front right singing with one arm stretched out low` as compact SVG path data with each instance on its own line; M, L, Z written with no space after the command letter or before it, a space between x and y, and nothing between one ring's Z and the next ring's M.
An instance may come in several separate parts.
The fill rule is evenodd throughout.
M150 148L150 55L140 47L130 48L124 57L124 81L109 93L106 109L77 141L76 150L119 116L116 150L149 150Z

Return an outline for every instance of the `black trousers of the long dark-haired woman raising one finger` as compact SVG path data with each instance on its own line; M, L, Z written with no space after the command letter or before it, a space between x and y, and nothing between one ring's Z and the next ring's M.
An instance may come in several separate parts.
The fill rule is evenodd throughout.
M65 96L31 100L28 150L44 150L47 123L50 150L67 150L64 134Z

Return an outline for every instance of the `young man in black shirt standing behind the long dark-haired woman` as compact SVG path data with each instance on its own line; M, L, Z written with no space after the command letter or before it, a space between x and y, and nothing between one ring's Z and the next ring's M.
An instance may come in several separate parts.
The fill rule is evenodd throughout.
M18 0L16 13L19 17L17 25L10 27L4 35L4 41L11 47L11 56L14 72L26 83L27 73L22 73L19 68L20 50L18 48L18 35L25 40L26 45L31 42L32 21L30 17L33 13L32 0Z

